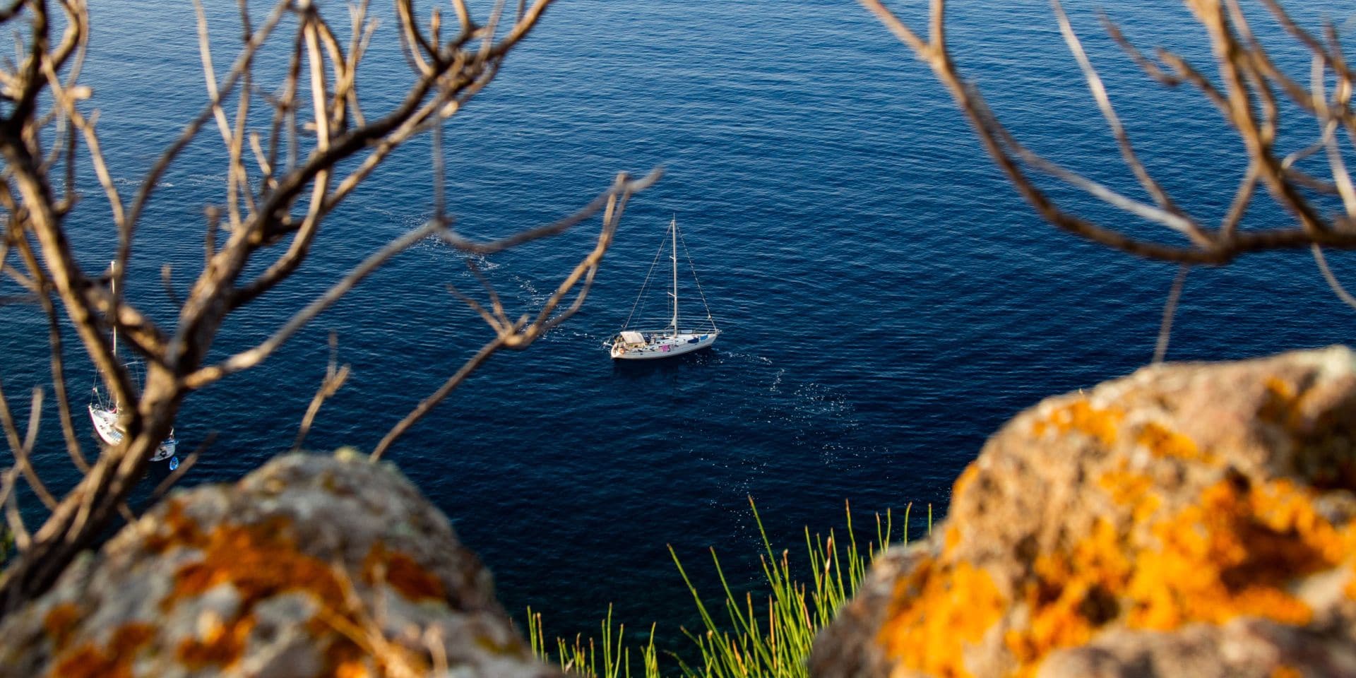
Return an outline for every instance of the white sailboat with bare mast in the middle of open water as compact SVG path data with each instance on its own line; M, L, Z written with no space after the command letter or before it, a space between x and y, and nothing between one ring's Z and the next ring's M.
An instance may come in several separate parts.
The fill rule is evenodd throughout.
M697 294L701 297L701 305L706 309L706 317L697 323L689 321L687 325L679 324L678 317L678 217L674 217L669 222L669 247L670 259L673 260L673 286L669 289L669 297L673 301L673 320L669 327L659 330L644 330L632 328L631 317L636 315L636 305L640 304L645 294L645 286L650 285L650 277L655 273L655 264L659 263L659 255L655 255L655 264L650 266L650 273L645 275L645 282L640 286L640 296L636 297L636 305L631 308L631 316L626 317L626 324L621 328L617 336L612 338L610 353L613 359L617 361L652 361L658 358L673 358L674 355L682 355L685 353L700 351L716 343L716 336L720 336L720 330L716 328L716 320L711 317L711 306L706 305L706 296L701 293L701 282L697 282L697 271L692 267L692 258L687 258L687 267L692 268L692 279L697 282ZM683 245L686 252L686 244ZM663 254L663 245L659 248L659 254Z

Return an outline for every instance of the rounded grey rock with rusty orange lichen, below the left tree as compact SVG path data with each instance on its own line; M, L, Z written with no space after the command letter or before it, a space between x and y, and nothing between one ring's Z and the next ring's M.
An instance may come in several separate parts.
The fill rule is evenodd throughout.
M559 675L393 468L293 454L176 494L0 625L0 677Z

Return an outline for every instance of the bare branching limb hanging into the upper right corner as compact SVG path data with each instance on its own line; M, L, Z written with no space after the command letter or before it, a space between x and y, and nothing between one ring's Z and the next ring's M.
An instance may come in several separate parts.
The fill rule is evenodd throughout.
M1338 149L1337 130L1348 133L1356 141L1356 122L1349 107L1352 73L1347 68L1336 31L1325 45L1310 33L1300 28L1275 0L1264 4L1281 27L1303 47L1311 52L1315 73L1313 84L1306 89L1287 76L1273 61L1253 34L1245 12L1237 0L1185 0L1196 20L1205 28L1223 85L1210 81L1201 72L1177 54L1159 49L1158 58L1168 69L1149 60L1121 30L1105 15L1102 23L1111 38L1150 77L1166 84L1189 84L1215 104L1227 127L1242 141L1246 155L1239 159L1242 179L1226 214L1220 218L1203 218L1178 207L1154 179L1153 172L1138 157L1116 115L1106 88L1088 58L1074 31L1069 16L1058 0L1052 0L1055 20L1069 45L1070 52L1083 77L1088 80L1096 106L1106 119L1108 127L1121 152L1121 159L1140 187L1153 198L1157 207L1120 195L1111 188L1093 182L1074 171L1031 152L1022 146L1002 125L984 102L983 94L961 75L945 41L945 0L933 0L929 9L929 34L923 39L895 12L880 0L860 0L881 23L899 38L914 56L928 64L937 79L946 87L956 104L970 119L984 149L1008 175L1008 179L1036 212L1052 225L1136 256L1162 259L1180 263L1223 264L1246 252L1265 250L1290 250L1323 245L1342 250L1356 248L1356 187L1342 163ZM1326 77L1333 77L1338 87L1332 94L1323 91ZM1285 92L1318 122L1319 138L1310 148L1281 157L1276 148L1277 130L1281 125L1281 110L1273 89ZM1309 176L1294 165L1298 160L1325 149L1329 156L1329 176L1326 180ZM1043 191L1031 171L1054 176L1089 195L1093 195L1121 212L1170 226L1186 236L1186 244L1173 237L1131 236L1113 224L1098 224L1075 216ZM1256 187L1264 186L1271 195L1294 217L1294 225L1261 224L1243 228L1248 206L1252 203ZM1347 214L1341 221L1329 218L1315 207L1306 191L1330 187L1342 199ZM1218 222L1218 228L1201 224Z

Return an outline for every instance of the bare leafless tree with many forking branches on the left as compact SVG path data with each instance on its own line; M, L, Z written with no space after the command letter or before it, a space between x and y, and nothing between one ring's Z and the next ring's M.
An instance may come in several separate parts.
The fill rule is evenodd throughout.
M328 22L316 1L277 0L258 23L251 20L247 4L240 3L243 38L224 75L213 66L213 52L221 46L212 39L206 8L195 1L205 103L156 157L130 199L113 180L115 174L100 145L98 111L91 108L92 92L79 81L89 35L84 0L12 0L0 5L0 26L8 24L22 33L18 58L0 62L0 96L4 99L0 104L0 157L4 159L0 271L34 294L49 315L52 376L62 435L72 462L84 473L65 496L47 492L30 462L34 445L41 441L35 428L37 404L30 415L31 424L22 434L9 415L8 400L0 393L0 424L14 458L0 476L0 503L5 504L7 521L20 546L20 553L0 574L0 616L49 587L71 559L104 533L119 514L132 517L126 498L174 427L188 392L264 361L373 270L419 239L438 236L460 251L494 252L560 233L603 210L599 241L534 320L529 323L525 317L511 324L500 312L504 323L496 330L496 346L529 344L572 315L587 296L626 199L650 186L658 172L640 180L622 176L612 190L556 222L479 243L449 228L439 155L434 160L430 191L435 218L373 252L324 294L296 309L293 317L259 346L206 363L216 336L232 316L286 283L304 266L311 250L323 243L325 218L342 207L376 167L418 134L433 132L435 148L441 148L441 125L494 80L504 57L532 33L551 0L518 3L511 22L503 11L504 3L494 1L484 24L475 20L465 3L453 0L456 34L446 37L439 14L434 12L422 26L412 0L393 0L393 39L401 41L415 68L403 84L382 83L388 89L401 87L403 94L397 103L378 107L363 99L359 75L369 45L380 39L377 23L367 14L367 0L350 4L347 22L339 24ZM53 22L53 12L64 15L64 20ZM60 35L54 34L56 26L60 26ZM336 26L346 26L347 34ZM270 42L290 50L286 65L281 73L258 73L256 56ZM281 84L264 94L255 87L260 81ZM263 129L254 129L251 115L259 115L259 106L270 114ZM225 183L217 199L203 205L207 217L205 258L194 271L193 285L182 296L168 283L170 263L163 264L164 289L178 306L178 315L172 325L161 325L142 311L144 300L137 300L126 285L132 251L140 220L161 178L188 144L199 138L207 121L213 121L216 137L220 137ZM65 217L79 206L81 195L76 184L77 161L89 163L94 170L118 233L113 264L102 273L81 270L66 240ZM53 190L56 184L61 186L61 195ZM18 254L16 263L11 262L14 254ZM175 266L184 267L183 263ZM263 273L247 278L247 270ZM104 388L121 404L123 441L102 449L92 461L80 450L65 391L62 323L76 330ZM125 346L145 361L144 384L136 384L123 358L114 354L108 340L114 328L119 338L126 338ZM302 422L298 445L316 410L334 395L346 374L344 369L334 366L327 370ZM197 454L190 456L167 483L178 480ZM42 525L33 532L19 519L18 492L14 491L19 481L28 484L49 509Z

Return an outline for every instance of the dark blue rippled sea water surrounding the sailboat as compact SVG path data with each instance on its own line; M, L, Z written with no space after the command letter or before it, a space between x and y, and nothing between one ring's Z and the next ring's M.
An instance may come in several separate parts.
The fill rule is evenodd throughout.
M1070 4L1146 163L1181 205L1218 220L1243 170L1237 140L1201 95L1139 75L1090 3ZM209 8L221 50L235 35L232 5ZM1298 9L1310 23L1349 12L1336 1ZM327 11L347 23L338 3ZM114 175L130 190L203 100L193 14L141 0L96 3L94 15L87 81ZM1113 16L1146 47L1210 62L1201 31L1173 3ZM951 26L960 64L1032 148L1142 197L1044 3L957 3ZM363 66L373 107L408 81L393 23L377 35ZM1307 73L1283 41L1275 52ZM266 54L266 66L278 58ZM1294 118L1285 134L1299 148L1311 129ZM160 266L190 283L202 205L224 201L216 138L203 132L142 220L127 296L167 324ZM839 525L845 500L862 519L909 502L944 509L952 479L1003 420L1149 361L1176 274L1037 220L930 73L846 0L563 0L445 141L449 210L483 237L567 214L617 171L666 170L632 202L584 309L529 351L494 357L388 457L456 521L504 603L534 605L553 633L589 632L609 602L632 625L658 620L673 633L690 602L666 544L694 565L706 546L755 563L749 495L786 546L804 525ZM396 153L327 222L305 270L232 317L216 354L262 340L427 218L427 153L426 141ZM84 191L71 228L80 259L99 268L113 226L92 180ZM1155 233L1070 199L1106 225ZM709 353L614 365L601 342L625 319L674 214L724 334ZM1284 222L1265 197L1250 212L1257 226ZM480 264L510 311L534 311L595 229ZM1356 263L1332 259L1338 271ZM370 449L490 338L446 282L476 287L457 252L423 243L263 366L190 396L180 445L218 437L186 483L235 480L290 446L331 331L353 376L308 446ZM5 388L22 400L47 378L41 312L11 305L0 316ZM1353 320L1306 254L1257 255L1191 273L1169 357L1349 342ZM92 372L76 361L69 381L84 392ZM46 412L39 462L69 484Z

